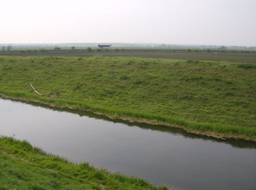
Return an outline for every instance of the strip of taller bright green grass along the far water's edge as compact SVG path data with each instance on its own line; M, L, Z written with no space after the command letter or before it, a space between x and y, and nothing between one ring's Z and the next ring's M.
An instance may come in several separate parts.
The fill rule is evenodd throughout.
M82 101L64 100L59 98L49 98L38 94L17 92L0 89L0 95L6 98L40 102L49 106L58 108L70 108L76 110L84 110L107 116L111 119L122 119L129 122L148 123L153 125L166 125L170 127L179 127L186 132L199 135L206 135L221 139L234 138L244 139L256 142L256 128L238 127L220 123L199 123L186 119L173 118L170 116L160 116L144 112L132 112L129 110L104 108L94 106Z

